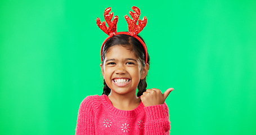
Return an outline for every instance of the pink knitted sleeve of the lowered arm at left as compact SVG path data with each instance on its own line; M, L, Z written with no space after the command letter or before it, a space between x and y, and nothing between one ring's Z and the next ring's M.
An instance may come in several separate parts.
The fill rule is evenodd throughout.
M78 111L75 135L95 134L94 113L95 109L97 109L97 105L98 101L96 96L84 98Z

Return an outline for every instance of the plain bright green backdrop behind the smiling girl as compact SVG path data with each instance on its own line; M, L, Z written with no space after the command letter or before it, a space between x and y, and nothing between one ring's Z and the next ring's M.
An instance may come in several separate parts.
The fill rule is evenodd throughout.
M170 134L256 134L255 1L0 1L0 134L75 134L80 102L101 95L96 25L147 17L147 88L169 87Z

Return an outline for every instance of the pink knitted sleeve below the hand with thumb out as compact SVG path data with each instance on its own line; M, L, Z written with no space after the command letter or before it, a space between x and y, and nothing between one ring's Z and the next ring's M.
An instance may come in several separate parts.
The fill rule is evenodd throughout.
M145 134L169 134L169 110L165 103L163 105L147 106L145 112Z

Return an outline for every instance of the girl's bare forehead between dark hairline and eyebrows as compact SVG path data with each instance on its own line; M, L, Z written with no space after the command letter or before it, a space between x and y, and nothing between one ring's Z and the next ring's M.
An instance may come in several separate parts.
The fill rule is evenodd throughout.
M115 45L110 47L106 52L106 57L133 57L136 58L130 46Z

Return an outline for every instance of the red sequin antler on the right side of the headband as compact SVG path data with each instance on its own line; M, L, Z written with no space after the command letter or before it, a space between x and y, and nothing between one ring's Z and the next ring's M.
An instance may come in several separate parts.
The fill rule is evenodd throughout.
M146 18L146 16L144 16L142 21L141 21L141 19L138 20L138 18L141 15L140 9L138 7L133 6L132 10L134 12L130 11L130 15L132 16L133 19L130 19L130 17L127 15L125 15L125 19L128 24L129 33L131 35L137 35L146 26L147 18ZM138 25L137 25L137 21L138 21Z

